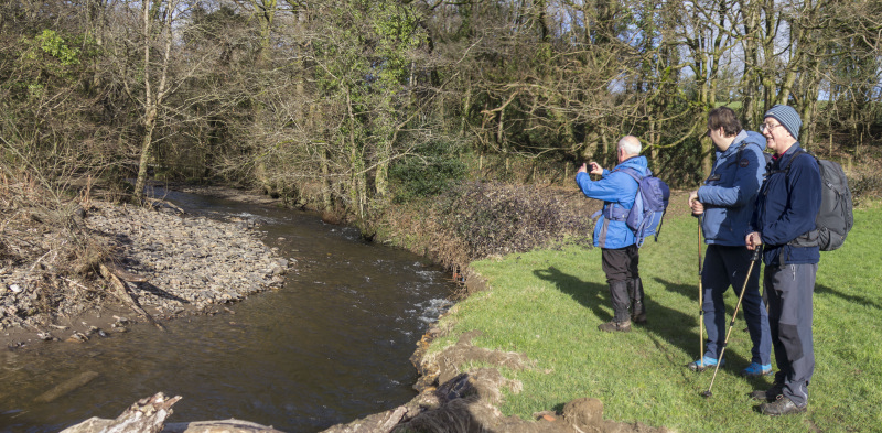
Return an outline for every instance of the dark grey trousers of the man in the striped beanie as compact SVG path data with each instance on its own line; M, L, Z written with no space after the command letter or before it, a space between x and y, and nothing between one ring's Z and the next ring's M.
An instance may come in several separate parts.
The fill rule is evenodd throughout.
M784 397L798 407L808 403L808 383L815 372L811 301L817 272L817 263L771 266L765 268L763 281L778 367L775 382L784 386Z

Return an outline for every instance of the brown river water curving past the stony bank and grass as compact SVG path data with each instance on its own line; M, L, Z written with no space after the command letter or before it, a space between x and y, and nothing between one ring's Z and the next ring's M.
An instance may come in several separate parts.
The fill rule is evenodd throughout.
M259 220L265 242L297 261L284 286L229 304L235 314L166 322L165 333L137 325L85 344L2 349L0 432L114 419L159 391L183 397L168 422L235 418L318 432L416 396L408 357L450 306L453 283L441 269L312 214L173 192L168 198L189 213ZM98 376L85 387L34 401L88 371Z

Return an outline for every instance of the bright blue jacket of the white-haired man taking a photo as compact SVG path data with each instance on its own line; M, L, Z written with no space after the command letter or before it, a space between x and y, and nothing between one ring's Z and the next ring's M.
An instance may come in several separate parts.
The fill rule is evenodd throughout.
M646 156L632 156L616 165L613 171L604 170L600 181L591 181L588 173L577 173L576 183L589 198L603 201L603 215L594 224L594 247L617 249L634 245L634 231L623 220L610 220L606 215L631 209L637 195L637 182L620 169L631 167L642 175L648 175Z

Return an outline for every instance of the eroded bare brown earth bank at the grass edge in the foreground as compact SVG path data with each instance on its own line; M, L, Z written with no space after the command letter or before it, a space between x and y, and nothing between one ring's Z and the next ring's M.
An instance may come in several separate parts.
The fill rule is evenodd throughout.
M477 275L472 275L478 279ZM454 307L455 308L455 307ZM517 380L504 377L499 369L534 368L523 354L488 350L472 345L480 332L460 336L456 344L427 356L428 343L447 329L433 327L420 342L411 359L422 375L416 388L419 396L407 404L335 425L323 433L667 433L666 427L603 419L603 402L583 397L560 411L536 412L531 420L505 416L497 409L503 392L524 392ZM470 368L483 365L491 367Z

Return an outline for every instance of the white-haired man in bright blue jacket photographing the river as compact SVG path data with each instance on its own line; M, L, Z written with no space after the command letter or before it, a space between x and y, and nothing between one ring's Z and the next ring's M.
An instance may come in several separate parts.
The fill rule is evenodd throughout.
M641 176L649 174L646 156L641 156L641 141L634 136L619 140L619 165L613 171L603 170L591 162L591 174L600 175L592 181L585 164L576 173L576 183L589 198L603 201L601 217L594 225L594 247L600 247L603 272L610 285L613 303L613 320L598 326L605 332L630 332L631 322L645 323L643 283L637 270L639 253L634 231L625 219L634 206L637 182L623 170L633 170Z

